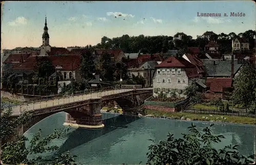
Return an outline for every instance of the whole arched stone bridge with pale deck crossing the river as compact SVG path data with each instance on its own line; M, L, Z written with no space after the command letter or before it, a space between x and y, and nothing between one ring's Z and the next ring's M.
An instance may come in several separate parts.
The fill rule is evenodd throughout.
M66 112L66 121L63 125L96 129L104 127L100 110L110 101L116 101L123 111L129 111L142 105L144 100L152 95L152 88L108 89L98 92L81 93L81 95L77 96L53 98L46 101L14 106L12 107L12 117L19 116L23 111L30 111L32 113L30 122L20 126L17 130L22 134L39 121L61 111Z

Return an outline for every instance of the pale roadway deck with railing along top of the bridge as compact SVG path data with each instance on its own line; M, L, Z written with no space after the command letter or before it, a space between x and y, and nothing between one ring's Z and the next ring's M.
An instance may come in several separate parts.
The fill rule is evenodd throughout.
M142 88L142 89L136 89L136 90L146 90L146 89L152 89L152 88ZM41 102L36 102L36 103L31 103L31 104L25 103L25 105L13 106L12 107L12 115L19 115L20 112L22 112L22 111L31 111L31 110L37 110L37 109L47 108L47 107L50 108L53 106L74 103L74 102L84 101L84 100L89 100L89 99L99 99L103 96L115 95L117 93L122 93L122 92L127 92L127 91L132 91L132 90L134 90L134 89L106 90L106 91L100 91L100 92L95 92L95 93L82 94L82 95L78 95L78 96L67 96L66 98L41 101Z

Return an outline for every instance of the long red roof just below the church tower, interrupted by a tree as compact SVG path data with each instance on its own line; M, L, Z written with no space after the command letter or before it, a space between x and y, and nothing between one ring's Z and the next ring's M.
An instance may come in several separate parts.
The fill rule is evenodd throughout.
M36 63L36 58L41 58L40 56L30 56L18 66L13 69L26 69L32 70L34 64ZM52 62L53 66L61 66L61 70L75 70L79 64L81 56L79 55L66 55L66 56L47 56L47 58ZM73 66L72 66L73 64Z

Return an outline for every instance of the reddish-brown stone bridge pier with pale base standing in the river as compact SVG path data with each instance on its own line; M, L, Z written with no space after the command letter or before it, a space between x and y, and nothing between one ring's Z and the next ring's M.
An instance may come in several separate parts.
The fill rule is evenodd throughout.
M96 99L94 99L95 101ZM100 100L99 100L100 101ZM102 117L100 112L100 102L90 103L76 109L77 112L66 113L64 126L82 127L89 129L103 128Z

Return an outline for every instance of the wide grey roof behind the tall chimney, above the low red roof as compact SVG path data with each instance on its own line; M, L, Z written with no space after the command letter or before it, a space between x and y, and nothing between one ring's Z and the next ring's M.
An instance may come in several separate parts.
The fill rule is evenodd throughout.
M207 75L210 77L228 77L231 76L231 59L202 59L208 70ZM215 64L214 64L215 61ZM234 74L236 74L242 64L238 64L238 60L234 59Z

